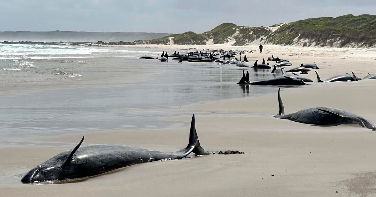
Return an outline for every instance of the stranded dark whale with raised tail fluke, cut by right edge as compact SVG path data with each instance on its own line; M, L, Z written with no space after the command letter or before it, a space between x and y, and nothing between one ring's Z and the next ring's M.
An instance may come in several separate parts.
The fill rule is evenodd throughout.
M279 113L276 118L312 125L359 124L362 127L376 130L376 127L363 117L333 107L314 107L285 115L285 108L279 92L280 88L278 90Z

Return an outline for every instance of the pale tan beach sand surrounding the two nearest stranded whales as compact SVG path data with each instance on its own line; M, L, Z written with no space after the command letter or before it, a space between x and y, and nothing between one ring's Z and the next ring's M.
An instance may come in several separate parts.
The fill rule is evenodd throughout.
M257 49L257 46L224 45L158 47L170 50L189 47L197 47L199 50L202 47ZM358 77L364 77L367 72L376 73L375 49L266 45L264 51L262 54L255 51L247 54L247 57L260 61L262 57L273 54L295 65L298 62L316 61L321 67L318 72L322 79L351 71ZM316 79L312 71L305 77ZM91 87L87 82L82 83ZM59 88L64 88L65 84L69 86L70 81ZM331 106L376 123L375 88L376 80L311 83L302 88L282 88L281 96L286 113ZM181 123L170 129L99 131L85 134L84 141L84 144L114 143L162 151L178 150L188 141L190 116L196 113L196 129L205 149L239 150L246 154L156 161L133 165L81 182L25 185L19 182L21 173L59 152L73 148L82 134L25 138L24 141L48 144L43 147L0 147L0 176L3 177L0 183L1 195L375 196L375 131L357 125L314 126L276 119L273 115L278 111L278 104L277 89L274 89L275 93L266 96L176 108L182 116L161 117Z

